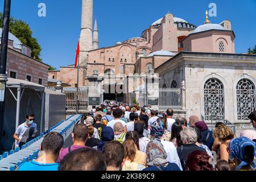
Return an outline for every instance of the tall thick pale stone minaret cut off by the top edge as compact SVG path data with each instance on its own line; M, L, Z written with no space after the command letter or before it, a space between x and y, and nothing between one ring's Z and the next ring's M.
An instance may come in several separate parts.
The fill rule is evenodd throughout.
M84 62L92 46L93 0L82 0L82 20L80 34L80 61ZM86 64L85 64L86 65Z

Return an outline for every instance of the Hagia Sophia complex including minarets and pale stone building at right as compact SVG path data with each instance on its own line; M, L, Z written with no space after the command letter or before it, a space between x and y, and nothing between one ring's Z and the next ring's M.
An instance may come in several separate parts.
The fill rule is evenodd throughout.
M247 115L255 110L256 55L236 53L235 38L230 20L215 24L207 13L205 22L195 26L167 13L140 37L98 48L93 0L82 0L79 86L89 86L88 78L95 75L114 77L118 84L129 75L153 70L159 75L159 88L182 90L181 114L198 115L205 121L223 118L248 123ZM59 71L50 71L48 77L74 87L77 69L74 65L60 67ZM106 81L101 82L102 90L109 87ZM131 100L129 94L119 93L101 93L100 97L101 101ZM159 97L154 99L160 103Z

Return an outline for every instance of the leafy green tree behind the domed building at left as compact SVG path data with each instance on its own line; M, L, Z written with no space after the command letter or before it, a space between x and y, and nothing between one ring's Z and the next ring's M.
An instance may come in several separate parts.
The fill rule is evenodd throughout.
M0 13L0 27L3 27L2 13ZM9 31L11 34L16 36L20 42L31 48L31 57L42 61L40 58L40 52L42 51L42 48L40 47L38 40L32 36L32 30L26 22L20 19L15 19L13 16L11 16Z

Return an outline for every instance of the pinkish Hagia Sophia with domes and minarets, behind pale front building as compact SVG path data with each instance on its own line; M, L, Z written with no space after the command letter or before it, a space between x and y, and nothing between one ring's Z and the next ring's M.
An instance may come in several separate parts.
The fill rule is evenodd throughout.
M219 38L225 43L223 49L218 49L216 40ZM203 46L202 41L210 41L210 46ZM80 86L88 86L86 77L92 76L93 71L121 79L133 73L141 75L159 67L180 51L234 53L234 33L229 20L220 24L208 21L196 27L171 13L152 23L141 37L103 48L98 48L98 42L97 20L93 27L93 0L83 0L80 35L80 78L83 79L80 79ZM60 67L60 71L50 71L49 77L75 86L76 72L70 65Z

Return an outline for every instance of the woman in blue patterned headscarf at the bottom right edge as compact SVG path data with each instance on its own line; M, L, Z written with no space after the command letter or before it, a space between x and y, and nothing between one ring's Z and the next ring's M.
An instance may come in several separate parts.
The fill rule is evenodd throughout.
M255 171L256 144L247 137L232 139L229 142L229 155L236 165L236 171Z

